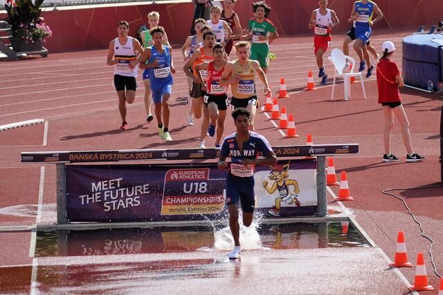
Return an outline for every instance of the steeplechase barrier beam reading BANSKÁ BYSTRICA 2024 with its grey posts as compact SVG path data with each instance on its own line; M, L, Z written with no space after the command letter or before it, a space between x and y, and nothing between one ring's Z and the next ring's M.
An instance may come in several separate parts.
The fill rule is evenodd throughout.
M313 158L316 164L316 193L317 217L327 216L326 198L326 156L349 155L359 153L359 144L315 144L303 146L273 146L275 155L280 159L298 158L303 156ZM66 225L71 221L66 217L66 166L69 169L75 164L88 163L114 163L114 162L140 162L152 160L210 160L219 158L219 149L134 149L118 151L48 151L48 152L23 152L22 163L56 164L57 173L57 224ZM73 165L66 165L73 164ZM312 165L312 163L310 163ZM188 167L196 166L195 162ZM120 165L116 165L120 166ZM125 165L122 165L125 166ZM140 164L134 164L134 167ZM89 165L90 169L98 167ZM218 180L221 180L220 178ZM76 220L78 221L78 220ZM109 220L110 221L110 220ZM167 221L167 220L166 220Z

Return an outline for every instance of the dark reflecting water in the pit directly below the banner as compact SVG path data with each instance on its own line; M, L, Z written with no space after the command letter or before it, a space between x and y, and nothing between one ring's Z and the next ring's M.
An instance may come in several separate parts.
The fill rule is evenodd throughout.
M35 256L211 251L217 244L217 232L220 231L226 234L227 230L213 227L156 227L39 231ZM343 234L345 231L341 222L262 224L257 227L256 231L260 239L255 243L260 243L262 248L369 247L368 242L351 225ZM217 247L217 249L220 248Z

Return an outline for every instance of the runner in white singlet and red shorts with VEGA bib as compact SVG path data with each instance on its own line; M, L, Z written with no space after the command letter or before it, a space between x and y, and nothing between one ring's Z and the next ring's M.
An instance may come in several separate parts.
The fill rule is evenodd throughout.
M318 77L322 78L321 84L326 84L327 75L323 67L323 55L331 44L332 27L338 25L338 17L334 10L327 8L327 0L318 1L320 8L314 10L309 21L309 29L314 29L314 54L316 55L318 65Z

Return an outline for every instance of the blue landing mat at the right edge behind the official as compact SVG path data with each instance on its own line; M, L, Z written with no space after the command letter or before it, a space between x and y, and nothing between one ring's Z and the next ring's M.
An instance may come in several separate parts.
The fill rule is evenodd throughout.
M439 44L432 40L438 40ZM410 35L403 38L403 77L410 86L426 89L432 80L443 81L443 35Z

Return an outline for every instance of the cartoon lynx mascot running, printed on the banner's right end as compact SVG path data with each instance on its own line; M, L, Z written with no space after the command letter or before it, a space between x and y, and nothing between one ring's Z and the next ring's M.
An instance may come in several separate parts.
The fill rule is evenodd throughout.
M268 182L264 180L263 187L271 195L278 190L280 196L275 199L275 206L269 210L269 214L272 216L280 216L280 205L282 202L286 204L295 204L300 207L300 201L297 198L297 194L300 193L298 188L298 182L293 179L289 179L289 162L284 165L271 166L271 172L268 178L273 181L271 187L268 187ZM289 191L289 187L293 186L293 193Z

